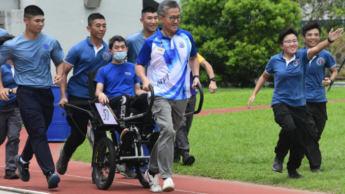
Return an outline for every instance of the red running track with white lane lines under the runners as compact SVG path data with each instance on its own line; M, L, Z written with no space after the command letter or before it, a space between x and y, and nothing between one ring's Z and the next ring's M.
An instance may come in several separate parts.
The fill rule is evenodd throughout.
M260 108L268 108L269 106L263 106ZM250 110L258 109L259 107L252 107ZM236 109L232 109L239 111ZM248 110L246 107L242 107L242 110ZM210 113L225 113L227 111L203 111L201 115L208 115ZM230 111L231 112L231 111ZM26 130L23 128L20 134L19 153L21 153L25 141L27 138ZM49 143L50 150L53 155L53 159L56 162L59 157L59 151L63 143ZM45 176L43 175L40 167L37 164L36 158L30 161L29 172L30 180L23 182L20 179L8 180L4 179L5 175L5 144L0 147L0 190L10 190L17 193L151 193L150 189L144 188L139 180L127 179L120 174L115 174L114 182L108 190L99 190L95 184L91 183L92 168L89 163L71 161L68 164L68 169L65 175L59 175L61 182L55 189L48 189L48 184ZM173 193L219 193L219 194L306 194L306 193L320 193L309 192L303 190L287 189L283 187L272 187L266 185L257 185L251 183L243 183L237 181L227 181L211 178L191 177L174 175L175 191ZM160 184L163 184L163 180L160 179ZM16 189L25 189L16 190ZM2 192L0 191L0 192Z

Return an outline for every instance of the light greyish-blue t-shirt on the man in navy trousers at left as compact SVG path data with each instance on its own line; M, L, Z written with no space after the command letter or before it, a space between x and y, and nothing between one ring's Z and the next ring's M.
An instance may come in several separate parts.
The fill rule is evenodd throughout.
M36 88L50 88L53 78L50 73L50 59L61 63L64 58L60 43L43 32L36 40L26 40L23 34L8 40L0 46L0 64L12 59L18 85Z

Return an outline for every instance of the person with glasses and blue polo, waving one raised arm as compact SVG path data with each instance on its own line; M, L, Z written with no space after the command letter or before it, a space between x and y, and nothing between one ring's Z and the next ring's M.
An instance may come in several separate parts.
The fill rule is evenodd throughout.
M268 77L274 73L274 91L271 107L274 121L282 127L279 133L272 170L283 172L285 156L290 151L287 163L288 177L302 178L296 169L301 165L304 143L308 131L308 115L305 106L305 78L308 62L331 42L338 39L343 30L333 29L327 40L308 50L298 51L297 31L286 29L279 34L282 53L271 57L265 71L259 78L247 106L255 100L256 94Z

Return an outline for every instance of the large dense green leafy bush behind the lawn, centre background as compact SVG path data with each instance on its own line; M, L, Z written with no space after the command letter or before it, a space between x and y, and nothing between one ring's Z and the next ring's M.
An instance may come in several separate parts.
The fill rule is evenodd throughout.
M181 2L180 27L192 33L218 84L253 86L269 58L281 52L280 31L301 22L299 5L290 0Z

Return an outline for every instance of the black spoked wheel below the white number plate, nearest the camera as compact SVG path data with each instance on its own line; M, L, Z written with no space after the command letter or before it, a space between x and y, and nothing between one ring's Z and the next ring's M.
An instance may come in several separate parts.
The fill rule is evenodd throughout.
M101 138L92 159L92 179L100 190L107 190L113 183L116 168L115 156L116 151L112 140L108 137Z

